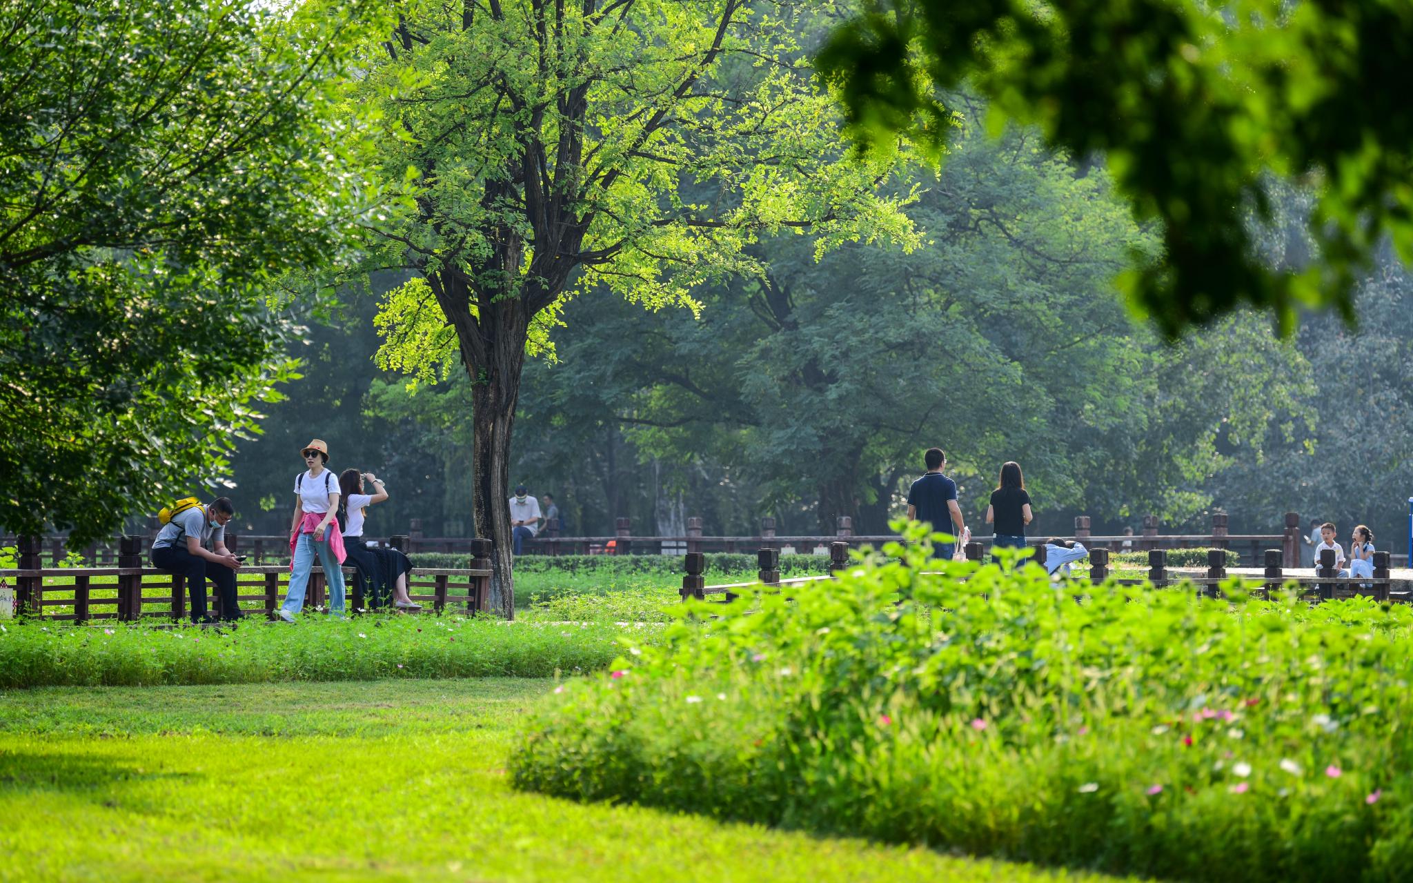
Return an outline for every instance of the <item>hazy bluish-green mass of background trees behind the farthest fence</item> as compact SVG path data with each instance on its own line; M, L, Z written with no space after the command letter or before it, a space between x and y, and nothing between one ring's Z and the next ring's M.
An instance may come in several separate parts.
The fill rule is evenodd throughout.
M1150 249L1101 165L1046 151L1033 133L989 138L968 109L951 154L910 215L913 254L851 244L815 263L803 237L753 246L766 281L705 287L699 318L613 298L565 307L572 333L527 362L513 478L554 493L567 534L885 530L920 452L940 444L974 526L1005 459L1026 469L1039 521L1068 533L1279 531L1287 510L1355 523L1381 548L1403 534L1413 485L1410 280L1392 254L1356 295L1355 328L1308 315L1287 343L1238 314L1177 345L1135 324L1111 278ZM1273 264L1299 266L1308 195L1284 192L1263 229ZM391 284L391 283L387 283ZM387 284L383 287L386 288ZM314 329L309 379L288 387L264 438L236 459L242 518L290 492L307 435L336 468L376 469L393 499L370 531L469 533L466 384L408 393L370 362L373 297L348 297ZM353 403L360 408L355 413ZM978 533L985 533L978 530ZM1399 547L1395 547L1399 548Z

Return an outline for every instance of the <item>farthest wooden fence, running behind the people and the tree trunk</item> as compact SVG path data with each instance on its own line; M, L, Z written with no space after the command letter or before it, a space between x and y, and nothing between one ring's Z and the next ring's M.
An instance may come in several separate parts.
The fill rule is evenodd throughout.
M400 548L404 552L448 552L475 554L479 540L472 537L427 537L421 530L421 520L413 518L406 534L386 538L376 538L380 545ZM1156 516L1143 518L1142 533L1135 535L1096 535L1092 534L1089 516L1075 516L1074 533L1068 538L1078 540L1089 548L1108 548L1111 551L1150 551L1157 548L1229 548L1236 551L1243 562L1251 567L1260 567L1265 550L1280 547L1284 567L1294 568L1300 564L1300 516L1286 513L1284 530L1279 534L1232 534L1228 530L1228 516L1217 513L1212 516L1211 533L1208 534L1160 534ZM155 520L148 527L148 541L155 538ZM682 552L752 552L759 548L796 550L797 552L815 554L821 548L828 548L832 543L845 543L852 548L863 545L882 545L897 540L893 534L858 535L853 533L853 521L848 516L838 518L834 535L781 535L776 533L774 518L760 520L760 533L753 537L712 537L702 533L702 518L687 518L687 533L681 537L634 537L629 518L617 518L612 537L567 537L560 535L558 524L550 524L540 535L526 540L526 550L530 554L541 555L592 555L592 554L649 554L649 555L680 555ZM14 544L14 538L0 538L0 547ZM49 562L58 562L65 557L64 537L44 537L40 540L42 552ZM150 543L148 543L150 544ZM290 559L290 537L287 534L236 534L226 533L226 548L239 550L250 555L252 564L281 564ZM86 562L105 565L117 562L117 538L96 543L79 554Z

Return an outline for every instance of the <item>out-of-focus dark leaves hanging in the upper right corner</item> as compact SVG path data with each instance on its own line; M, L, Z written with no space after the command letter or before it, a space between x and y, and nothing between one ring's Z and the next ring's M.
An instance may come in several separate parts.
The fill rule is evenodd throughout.
M971 81L998 120L1105 154L1163 225L1166 261L1125 287L1169 335L1243 304L1283 329L1300 305L1348 319L1381 237L1413 257L1410 66L1399 0L869 0L820 54L861 144L904 133L938 148L952 130L941 90ZM1272 175L1320 189L1307 268L1270 270L1253 247Z

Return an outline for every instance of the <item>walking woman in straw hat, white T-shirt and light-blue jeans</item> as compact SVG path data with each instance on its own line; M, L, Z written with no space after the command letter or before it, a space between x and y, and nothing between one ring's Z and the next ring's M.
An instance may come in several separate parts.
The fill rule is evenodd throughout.
M324 578L329 585L329 615L343 616L343 537L335 513L339 509L339 483L333 473L325 469L329 462L329 446L315 438L304 446L304 463L308 466L294 479L294 493L300 502L294 506L294 520L290 523L290 591L280 605L280 619L294 622L304 608L304 591L309 585L309 568L314 557L324 565Z

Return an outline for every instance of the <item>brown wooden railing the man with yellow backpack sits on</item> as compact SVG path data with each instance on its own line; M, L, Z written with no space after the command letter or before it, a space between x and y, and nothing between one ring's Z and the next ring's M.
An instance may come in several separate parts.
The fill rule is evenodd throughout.
M486 545L489 545L487 541ZM482 547L485 551L485 547ZM119 550L116 567L44 568L40 543L23 540L18 568L0 569L0 581L14 583L16 612L47 620L89 622L95 619L140 620L146 617L185 619L191 588L185 576L143 567L147 552L146 537L126 537ZM422 602L425 612L441 613L447 605L463 606L466 612L486 610L490 589L490 561L472 561L472 568L415 568L408 574L407 592ZM352 567L343 568L348 610L357 615L366 609L362 583L353 578ZM288 565L253 565L236 571L236 599L254 602L243 606L244 615L276 617L276 610L288 589ZM220 599L206 586L206 609L220 615ZM324 569L314 567L305 592L305 605L325 602ZM69 610L55 613L54 609ZM391 608L396 609L396 608Z

